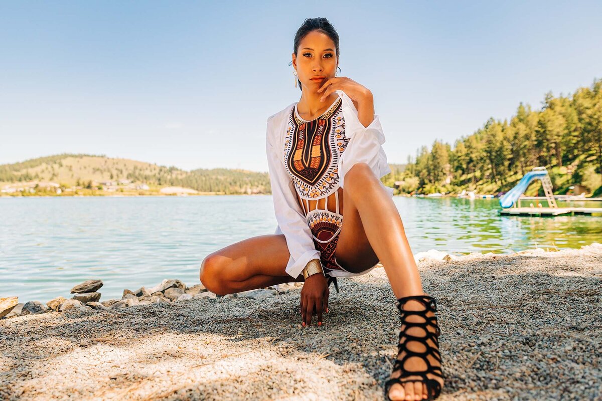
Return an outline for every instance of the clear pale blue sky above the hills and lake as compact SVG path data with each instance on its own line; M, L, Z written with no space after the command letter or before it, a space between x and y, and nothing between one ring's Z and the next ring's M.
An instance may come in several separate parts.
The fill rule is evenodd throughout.
M374 94L391 163L518 104L602 78L602 2L0 2L0 164L93 153L267 171L269 115L299 100L306 17Z

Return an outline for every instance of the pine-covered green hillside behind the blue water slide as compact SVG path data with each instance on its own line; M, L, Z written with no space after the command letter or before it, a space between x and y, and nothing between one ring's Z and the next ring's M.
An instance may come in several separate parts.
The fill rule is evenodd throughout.
M573 94L548 93L542 108L521 103L509 120L489 118L472 135L452 145L421 147L396 177L401 189L424 194L461 189L495 194L507 191L533 167L550 171L554 192L575 184L602 192L602 79ZM539 183L530 187L532 195Z

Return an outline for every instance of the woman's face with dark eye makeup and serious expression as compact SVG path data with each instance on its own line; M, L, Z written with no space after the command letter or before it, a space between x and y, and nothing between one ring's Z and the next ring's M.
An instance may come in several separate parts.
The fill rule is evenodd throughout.
M309 32L299 44L297 54L293 53L293 67L303 90L320 89L326 79L335 76L337 66L335 43L322 32Z

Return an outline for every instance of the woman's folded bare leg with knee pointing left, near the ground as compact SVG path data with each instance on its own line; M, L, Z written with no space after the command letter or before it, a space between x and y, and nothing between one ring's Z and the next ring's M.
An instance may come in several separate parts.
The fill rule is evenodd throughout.
M289 258L284 234L260 235L209 254L199 278L218 295L303 281L303 275L295 279L285 272Z

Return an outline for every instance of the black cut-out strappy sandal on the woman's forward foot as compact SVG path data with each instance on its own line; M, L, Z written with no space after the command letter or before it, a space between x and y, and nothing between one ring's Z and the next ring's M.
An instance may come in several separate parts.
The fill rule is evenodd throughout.
M403 309L403 305L406 304L410 299L414 299L421 304L424 305L424 310L414 311L414 310L405 310ZM389 398L389 390L391 390L391 386L393 384L399 383L403 386L404 383L408 382L417 382L419 379L406 379L409 376L420 376L423 380L423 383L426 385L427 391L427 401L432 401L439 397L441 393L441 384L436 381L434 378L429 379L427 374L431 374L433 376L437 376L445 380L445 376L441 370L441 354L439 354L439 334L441 331L439 330L439 326L437 325L437 317L434 316L437 310L436 299L432 296L428 295L414 295L414 296L405 296L403 298L397 299L397 309L399 309L402 314L402 327L399 332L399 344L397 344L397 358L395 360L395 364L393 366L393 372L397 370L401 370L401 374L398 378L388 379L385 382L385 399L391 401ZM432 312L433 316L427 316L427 313ZM423 322L408 322L406 318L410 315L420 316L424 321ZM404 327L405 326L405 327ZM423 329L424 334L422 337L417 337L414 335L406 334L408 328L410 327L419 327ZM433 347L432 344L429 344L427 340L431 340L436 347ZM424 352L416 352L414 349L417 349L418 344L411 344L408 347L409 343L420 343L426 349ZM400 360L399 355L404 353L403 358ZM430 355L435 361L439 363L439 366L432 366L427 355ZM405 369L404 364L408 358L418 357L424 361L427 368L426 370L408 370Z

